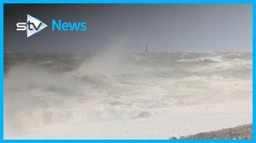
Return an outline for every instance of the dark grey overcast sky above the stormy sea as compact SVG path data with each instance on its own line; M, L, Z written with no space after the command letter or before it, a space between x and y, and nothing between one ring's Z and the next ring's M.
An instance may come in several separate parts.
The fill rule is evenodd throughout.
M27 38L26 14L48 25ZM52 19L86 31L52 31ZM5 52L252 51L251 4L4 4Z

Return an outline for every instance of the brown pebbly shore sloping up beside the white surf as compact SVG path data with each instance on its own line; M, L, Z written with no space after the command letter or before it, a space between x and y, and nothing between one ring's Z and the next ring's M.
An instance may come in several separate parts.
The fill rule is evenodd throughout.
M169 138L177 140L176 137ZM237 127L225 128L218 131L203 132L186 137L179 137L179 140L248 140L252 139L252 124Z

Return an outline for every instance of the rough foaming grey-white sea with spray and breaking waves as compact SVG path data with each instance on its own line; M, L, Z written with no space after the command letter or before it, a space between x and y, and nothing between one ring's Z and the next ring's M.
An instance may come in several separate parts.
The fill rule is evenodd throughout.
M252 123L252 52L4 53L4 139L169 139Z

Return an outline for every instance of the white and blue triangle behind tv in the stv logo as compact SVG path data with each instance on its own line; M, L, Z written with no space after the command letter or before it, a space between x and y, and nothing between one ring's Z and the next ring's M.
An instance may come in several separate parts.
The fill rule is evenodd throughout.
M27 15L27 18L26 18L26 37L30 37L31 35L42 31L45 27L47 27L47 25L44 24L41 20L39 20L35 17L32 17L30 15Z

